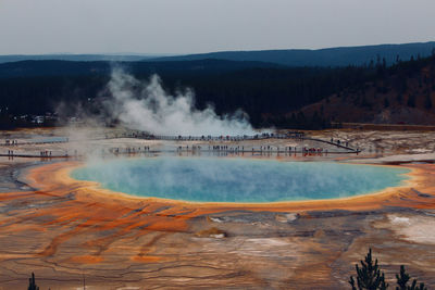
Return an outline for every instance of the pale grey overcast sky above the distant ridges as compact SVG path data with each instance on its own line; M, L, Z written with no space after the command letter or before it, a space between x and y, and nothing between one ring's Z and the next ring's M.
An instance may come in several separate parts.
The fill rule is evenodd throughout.
M0 54L430 41L434 13L435 0L0 0Z

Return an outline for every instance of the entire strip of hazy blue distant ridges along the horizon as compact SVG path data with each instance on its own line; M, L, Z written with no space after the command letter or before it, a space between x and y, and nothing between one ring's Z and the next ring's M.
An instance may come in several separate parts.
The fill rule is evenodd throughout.
M371 62L385 59L386 64L394 64L397 56L401 61L409 61L411 56L428 56L435 50L435 41L414 42L402 45L377 45L360 47L337 47L325 49L286 49L258 51L221 51L185 55L156 55L141 53L114 54L34 54L34 55L0 55L0 64L18 61L73 61L73 62L173 62L173 61L202 61L225 60L265 62L285 66L348 66L369 65Z

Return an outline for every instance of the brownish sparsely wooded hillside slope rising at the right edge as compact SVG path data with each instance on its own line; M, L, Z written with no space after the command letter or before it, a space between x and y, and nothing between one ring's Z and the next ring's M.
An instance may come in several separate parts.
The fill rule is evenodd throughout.
M435 56L378 68L376 79L287 114L337 123L435 125Z

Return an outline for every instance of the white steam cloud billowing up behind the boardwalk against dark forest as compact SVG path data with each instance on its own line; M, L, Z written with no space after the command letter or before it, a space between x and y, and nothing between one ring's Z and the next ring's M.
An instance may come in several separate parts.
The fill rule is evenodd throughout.
M197 110L191 90L171 96L157 75L140 81L115 68L108 88L114 101L109 104L111 112L130 129L175 136L256 134L243 111L219 116L211 105Z

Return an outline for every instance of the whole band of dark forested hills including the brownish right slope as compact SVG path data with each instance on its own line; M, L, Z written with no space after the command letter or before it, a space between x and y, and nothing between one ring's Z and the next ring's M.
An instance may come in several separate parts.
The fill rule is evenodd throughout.
M217 114L243 109L258 127L316 129L331 122L435 124L434 54L391 66L378 61L346 67L222 60L7 63L0 64L0 126L54 113L60 103L98 114L110 72L120 65L139 79L158 73L172 93L191 88L198 109L210 103Z

